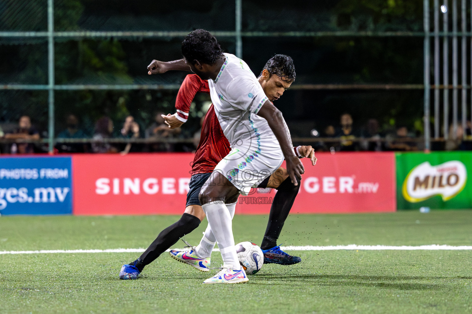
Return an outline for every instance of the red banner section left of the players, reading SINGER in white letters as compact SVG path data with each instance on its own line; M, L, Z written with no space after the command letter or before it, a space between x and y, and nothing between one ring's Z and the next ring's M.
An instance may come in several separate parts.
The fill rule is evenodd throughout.
M181 214L192 153L74 155L75 215Z

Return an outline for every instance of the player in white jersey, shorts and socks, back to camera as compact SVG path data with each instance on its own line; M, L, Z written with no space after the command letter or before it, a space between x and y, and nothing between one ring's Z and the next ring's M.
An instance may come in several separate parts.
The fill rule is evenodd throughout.
M231 216L225 200L246 195L287 161L294 185L304 172L295 155L282 113L268 100L249 66L224 54L205 30L195 30L182 42L186 66L209 81L211 100L231 151L203 185L200 202L217 240L223 267L204 283L247 282L235 249ZM185 65L183 65L185 67Z

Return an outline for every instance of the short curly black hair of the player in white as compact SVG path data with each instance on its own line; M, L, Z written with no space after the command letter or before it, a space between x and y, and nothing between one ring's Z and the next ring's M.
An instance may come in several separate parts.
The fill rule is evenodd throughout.
M185 36L182 41L182 56L187 61L197 60L204 64L214 64L223 58L223 51L210 32L198 29Z

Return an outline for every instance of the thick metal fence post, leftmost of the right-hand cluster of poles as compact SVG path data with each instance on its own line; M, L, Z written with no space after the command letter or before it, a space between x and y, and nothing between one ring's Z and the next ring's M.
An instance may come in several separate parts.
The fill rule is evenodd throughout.
M424 0L424 150L430 151L430 1Z

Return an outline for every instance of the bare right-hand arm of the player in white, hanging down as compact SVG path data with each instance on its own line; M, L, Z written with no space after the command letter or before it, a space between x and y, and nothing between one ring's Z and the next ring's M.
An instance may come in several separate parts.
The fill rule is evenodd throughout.
M264 118L267 120L267 123L269 123L269 127L272 129L272 132L274 132L275 137L277 137L285 161L287 162L288 175L292 183L298 185L296 177L301 180L305 169L300 159L295 156L290 131L288 130L287 123L285 123L282 113L267 100L264 105L262 105L257 115Z

